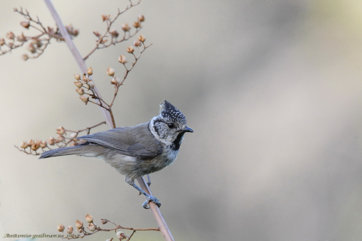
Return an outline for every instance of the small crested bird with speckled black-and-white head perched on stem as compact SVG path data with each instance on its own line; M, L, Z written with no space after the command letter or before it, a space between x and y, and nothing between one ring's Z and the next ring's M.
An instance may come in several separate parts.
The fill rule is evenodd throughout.
M64 155L101 158L125 175L125 182L146 197L142 207L150 208L150 201L160 207L159 200L142 190L134 180L172 164L186 132L194 131L187 126L185 115L164 100L160 104L160 114L149 122L80 136L77 139L85 143L45 151L39 159Z

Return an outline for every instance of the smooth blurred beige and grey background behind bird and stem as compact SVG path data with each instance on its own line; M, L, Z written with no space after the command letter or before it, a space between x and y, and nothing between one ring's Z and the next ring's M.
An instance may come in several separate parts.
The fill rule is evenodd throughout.
M101 14L112 17L129 2L53 3L66 25L80 29L74 42L85 56L92 32L105 30ZM54 26L41 0L2 1L0 36L24 31L13 12L20 6ZM122 32L144 14L140 33L153 45L119 90L117 126L150 120L166 99L195 131L174 164L151 174L175 240L362 240L361 12L358 0L155 0L120 17ZM106 100L113 94L106 68L123 75L118 56L134 39L87 60ZM35 60L24 62L24 53L0 56L1 237L58 234L59 223L85 223L88 213L99 225L106 218L156 227L144 197L103 161L38 160L14 148L56 136L59 126L102 121L74 91L80 70L64 43L52 42ZM147 231L131 240L163 238Z

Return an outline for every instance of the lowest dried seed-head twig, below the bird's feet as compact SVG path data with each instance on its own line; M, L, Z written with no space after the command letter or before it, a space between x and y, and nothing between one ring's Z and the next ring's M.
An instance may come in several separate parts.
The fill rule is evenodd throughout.
M92 215L85 215L85 220L87 221L88 223L88 227L87 229L89 231L87 231L84 227L84 224L82 221L79 221L79 220L76 220L75 222L75 227L76 227L76 230L79 231L80 234L75 234L73 235L73 232L74 232L74 228L72 226L68 226L67 229L64 227L63 224L59 224L58 225L58 231L59 232L62 232L63 233L63 237L67 238L67 239L74 239L74 238L83 238L85 236L88 236L88 235L91 235L93 233L97 233L99 231L106 231L106 232L109 232L109 231L114 231L114 232L117 232L118 229L126 229L126 230L131 230L132 233L130 234L130 236L127 236L124 232L122 231L118 231L116 233L116 236L117 236L117 239L119 241L122 241L123 239L125 239L126 241L129 241L131 239L131 237L133 236L133 234L136 232L136 231L160 231L159 228L127 228L127 227L122 227L121 225L117 225L115 224L114 222L110 221L110 220L107 220L107 219L101 219L102 221L102 224L106 224L106 223L112 223L114 224L114 228L109 228L109 229L104 229L104 228L100 228L98 225L96 225L94 222L93 222L93 216ZM64 233L64 231L67 233ZM106 241L112 241L113 238L110 238Z

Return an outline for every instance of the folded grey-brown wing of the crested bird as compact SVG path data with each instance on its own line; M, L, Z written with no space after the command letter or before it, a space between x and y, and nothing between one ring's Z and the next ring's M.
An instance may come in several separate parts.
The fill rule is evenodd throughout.
M162 153L162 147L150 130L147 123L132 127L119 127L101 131L91 135L80 136L77 139L97 143L105 147L140 159L153 158Z

